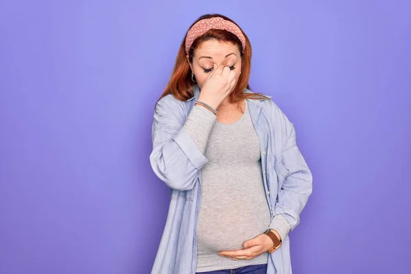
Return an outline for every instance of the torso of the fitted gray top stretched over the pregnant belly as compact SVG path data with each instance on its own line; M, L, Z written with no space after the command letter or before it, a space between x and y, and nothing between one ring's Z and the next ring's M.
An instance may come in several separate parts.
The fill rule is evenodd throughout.
M201 169L197 272L264 264L268 260L266 252L251 260L229 260L217 254L242 249L243 242L262 234L271 221L260 144L245 102L245 113L236 123L215 121L208 136L204 152L208 162Z

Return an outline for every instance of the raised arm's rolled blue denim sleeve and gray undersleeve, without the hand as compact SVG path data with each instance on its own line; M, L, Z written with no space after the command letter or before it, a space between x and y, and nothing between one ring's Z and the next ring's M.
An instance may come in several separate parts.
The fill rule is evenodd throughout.
M203 153L216 116L194 106L184 122L182 106L171 96L163 97L155 105L151 168L170 188L190 190L198 171L208 161Z

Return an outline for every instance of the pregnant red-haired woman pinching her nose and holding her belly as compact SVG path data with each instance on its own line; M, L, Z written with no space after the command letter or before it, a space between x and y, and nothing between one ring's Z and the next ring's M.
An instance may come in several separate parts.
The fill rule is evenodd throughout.
M312 193L295 128L249 88L251 44L221 14L191 25L155 105L151 167L171 189L151 273L291 273Z

